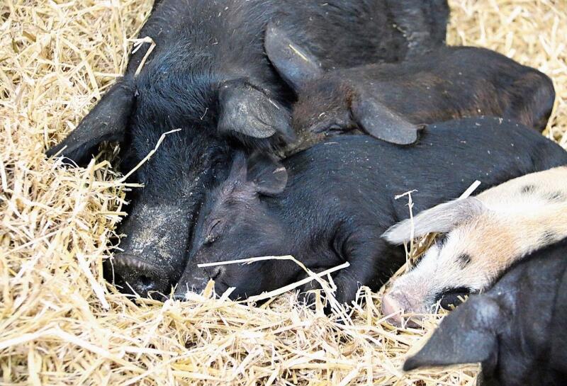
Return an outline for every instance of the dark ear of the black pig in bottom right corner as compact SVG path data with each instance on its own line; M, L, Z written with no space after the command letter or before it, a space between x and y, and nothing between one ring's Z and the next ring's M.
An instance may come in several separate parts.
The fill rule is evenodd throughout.
M492 372L498 361L496 328L501 319L503 312L494 300L468 300L445 317L427 344L405 361L403 370L481 362L484 373Z

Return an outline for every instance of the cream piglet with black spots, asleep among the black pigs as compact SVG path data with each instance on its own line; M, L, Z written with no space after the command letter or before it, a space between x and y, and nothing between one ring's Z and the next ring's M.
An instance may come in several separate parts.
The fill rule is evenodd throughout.
M459 295L485 290L513 263L567 237L566 181L567 166L527 174L388 229L383 238L391 244L408 242L412 227L415 237L442 236L395 280L383 297L383 313L400 324L403 312L431 312L439 300L443 307L457 304Z

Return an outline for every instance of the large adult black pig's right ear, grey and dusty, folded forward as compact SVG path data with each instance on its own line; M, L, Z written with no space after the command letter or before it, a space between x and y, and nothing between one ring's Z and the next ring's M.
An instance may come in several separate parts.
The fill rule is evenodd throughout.
M278 133L286 142L293 139L287 108L245 80L229 81L218 93L220 118L218 130L254 138Z

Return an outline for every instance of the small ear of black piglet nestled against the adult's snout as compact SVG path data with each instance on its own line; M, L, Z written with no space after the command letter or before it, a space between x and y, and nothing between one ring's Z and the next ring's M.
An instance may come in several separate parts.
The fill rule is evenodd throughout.
M283 192L288 182L288 172L279 161L266 154L252 154L248 160L248 181L263 195Z

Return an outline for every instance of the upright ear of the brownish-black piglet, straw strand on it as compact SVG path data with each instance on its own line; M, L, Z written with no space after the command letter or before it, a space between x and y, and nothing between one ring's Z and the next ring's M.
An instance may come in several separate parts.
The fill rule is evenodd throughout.
M264 48L271 64L296 93L306 81L323 73L319 59L305 47L292 42L274 23L269 23L266 29Z

